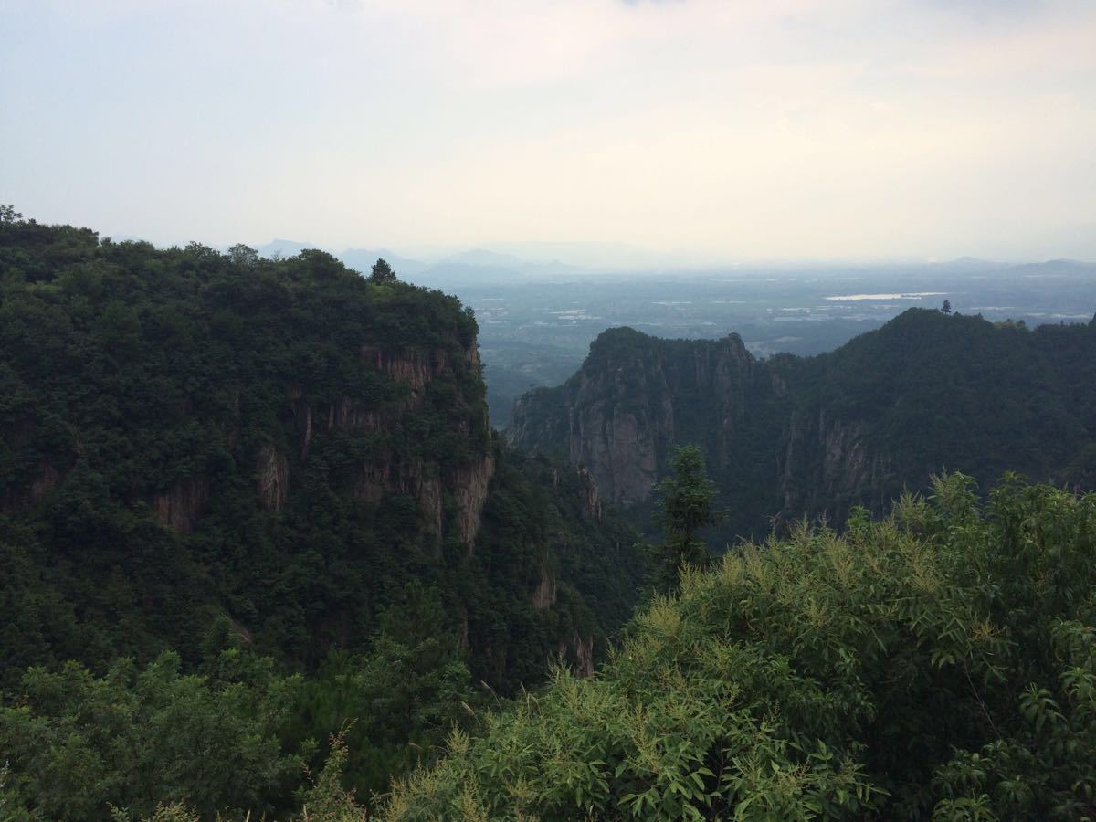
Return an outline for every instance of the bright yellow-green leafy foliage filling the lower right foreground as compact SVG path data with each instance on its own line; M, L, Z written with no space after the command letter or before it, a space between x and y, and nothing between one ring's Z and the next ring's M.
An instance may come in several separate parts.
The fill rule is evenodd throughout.
M1096 812L1096 496L937 480L683 574L602 673L455 734L388 819Z

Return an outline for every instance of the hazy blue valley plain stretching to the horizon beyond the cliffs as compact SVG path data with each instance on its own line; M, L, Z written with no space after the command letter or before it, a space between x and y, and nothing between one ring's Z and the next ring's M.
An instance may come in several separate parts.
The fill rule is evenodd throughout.
M305 248L313 247L288 241L259 247L269 255ZM549 250L566 254L568 248ZM590 343L617 326L685 340L733 332L755 356L767 357L832 351L907 308L939 308L944 300L960 313L1032 327L1087 321L1096 313L1096 263L1075 260L698 269L674 267L639 249L625 251L633 269L620 267L618 247L603 250L597 267L486 250L431 263L387 250L335 253L362 271L384 255L401 277L472 307L491 421L500 429L522 393L561 384L581 365ZM589 251L572 253L591 259Z

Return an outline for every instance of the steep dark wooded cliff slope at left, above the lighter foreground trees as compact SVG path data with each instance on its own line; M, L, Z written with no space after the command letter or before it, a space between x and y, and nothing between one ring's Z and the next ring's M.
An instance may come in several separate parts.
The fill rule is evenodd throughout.
M584 603L627 528L592 517L574 584L559 575L576 541L559 512L589 483L557 467L545 484L492 441L476 333L456 299L320 251L0 226L0 592L18 615L0 673L195 659L218 615L311 667L367 648L411 581L496 687L560 652L589 666L627 617Z

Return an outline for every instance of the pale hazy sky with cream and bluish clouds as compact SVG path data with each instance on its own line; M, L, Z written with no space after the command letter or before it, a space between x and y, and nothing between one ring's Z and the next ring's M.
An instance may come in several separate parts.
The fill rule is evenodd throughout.
M0 0L0 71L104 235L1096 259L1093 0Z

